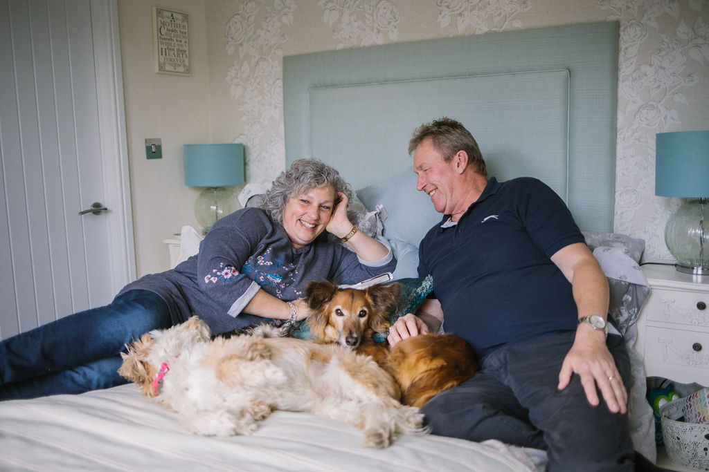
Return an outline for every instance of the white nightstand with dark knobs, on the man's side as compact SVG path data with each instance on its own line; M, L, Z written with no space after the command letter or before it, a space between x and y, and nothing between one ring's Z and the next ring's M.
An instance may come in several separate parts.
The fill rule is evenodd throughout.
M642 266L651 292L637 320L647 376L709 385L709 277Z

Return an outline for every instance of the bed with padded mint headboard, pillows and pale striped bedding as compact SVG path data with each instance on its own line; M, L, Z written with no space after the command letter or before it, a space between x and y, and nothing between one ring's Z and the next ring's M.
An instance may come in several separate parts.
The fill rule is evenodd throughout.
M353 218L385 238L394 278L416 277L416 246L439 221L415 191L412 130L447 115L478 140L491 175L531 175L569 205L611 285L611 314L631 347L635 447L654 459L652 410L632 350L647 298L643 241L612 234L618 23L445 38L284 58L286 166L314 157L357 190ZM359 205L359 206L357 206ZM184 231L182 255L199 236ZM0 403L0 469L536 471L545 454L500 442L400 437L359 447L347 425L276 412L250 437L196 437L133 385Z

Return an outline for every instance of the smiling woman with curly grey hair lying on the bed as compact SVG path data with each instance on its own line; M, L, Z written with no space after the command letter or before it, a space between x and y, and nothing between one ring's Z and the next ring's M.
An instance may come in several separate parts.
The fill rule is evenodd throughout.
M0 399L81 393L125 384L116 373L130 340L199 316L219 334L310 314L306 284L352 284L396 267L391 249L347 219L352 192L320 161L295 161L262 209L217 221L199 253L124 287L111 304L0 343ZM328 241L325 231L345 242Z

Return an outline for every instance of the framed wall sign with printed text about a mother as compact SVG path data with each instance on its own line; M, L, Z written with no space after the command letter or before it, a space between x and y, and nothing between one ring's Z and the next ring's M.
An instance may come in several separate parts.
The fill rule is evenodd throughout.
M189 76L189 22L187 13L152 7L152 38L155 71Z

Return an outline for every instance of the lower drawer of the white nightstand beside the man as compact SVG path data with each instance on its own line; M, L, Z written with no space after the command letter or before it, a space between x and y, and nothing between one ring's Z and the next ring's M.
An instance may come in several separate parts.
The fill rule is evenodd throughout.
M646 326L644 364L648 376L709 382L709 333Z

